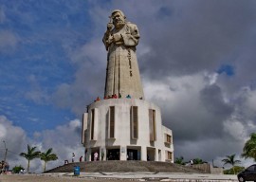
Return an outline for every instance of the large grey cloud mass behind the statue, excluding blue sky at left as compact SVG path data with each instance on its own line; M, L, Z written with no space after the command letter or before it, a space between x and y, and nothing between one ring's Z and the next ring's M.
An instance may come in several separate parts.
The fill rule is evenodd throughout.
M76 80L58 88L59 105L81 116L86 104L102 96L106 51L101 36L111 10L122 9L139 29L145 94L174 132L174 155L210 161L241 154L256 129L250 101L256 101L256 2L110 1L100 7L99 2L92 1L89 10L94 41L69 54L78 67ZM223 65L232 74L217 74Z

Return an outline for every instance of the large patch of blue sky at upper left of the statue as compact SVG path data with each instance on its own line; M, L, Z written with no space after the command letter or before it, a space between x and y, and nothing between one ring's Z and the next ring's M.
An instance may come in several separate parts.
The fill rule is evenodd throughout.
M75 118L70 110L55 107L49 97L58 84L73 80L76 65L70 64L64 44L75 48L86 43L90 36L86 27L91 24L84 10L88 5L85 1L3 3L1 32L13 36L13 42L1 51L0 114L28 134Z

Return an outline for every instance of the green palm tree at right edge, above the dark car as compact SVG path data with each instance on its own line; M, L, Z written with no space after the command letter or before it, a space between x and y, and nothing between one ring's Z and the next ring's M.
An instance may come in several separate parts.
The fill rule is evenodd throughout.
M256 133L252 133L247 140L242 156L245 158L251 157L256 162Z

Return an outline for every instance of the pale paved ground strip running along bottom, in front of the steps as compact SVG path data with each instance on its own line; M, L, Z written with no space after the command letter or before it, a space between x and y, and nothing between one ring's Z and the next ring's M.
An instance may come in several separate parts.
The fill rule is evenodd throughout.
M46 173L0 175L0 182L110 182L110 181L177 181L177 182L237 182L236 175L205 173Z

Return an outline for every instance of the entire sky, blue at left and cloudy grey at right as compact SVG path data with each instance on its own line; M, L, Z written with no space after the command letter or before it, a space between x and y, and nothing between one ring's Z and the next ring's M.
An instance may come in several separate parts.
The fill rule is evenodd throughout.
M53 148L48 168L83 154L82 113L103 95L113 9L139 28L146 100L173 130L175 157L222 166L240 155L256 131L255 1L0 0L1 159L3 140L11 167L27 166L27 144Z

